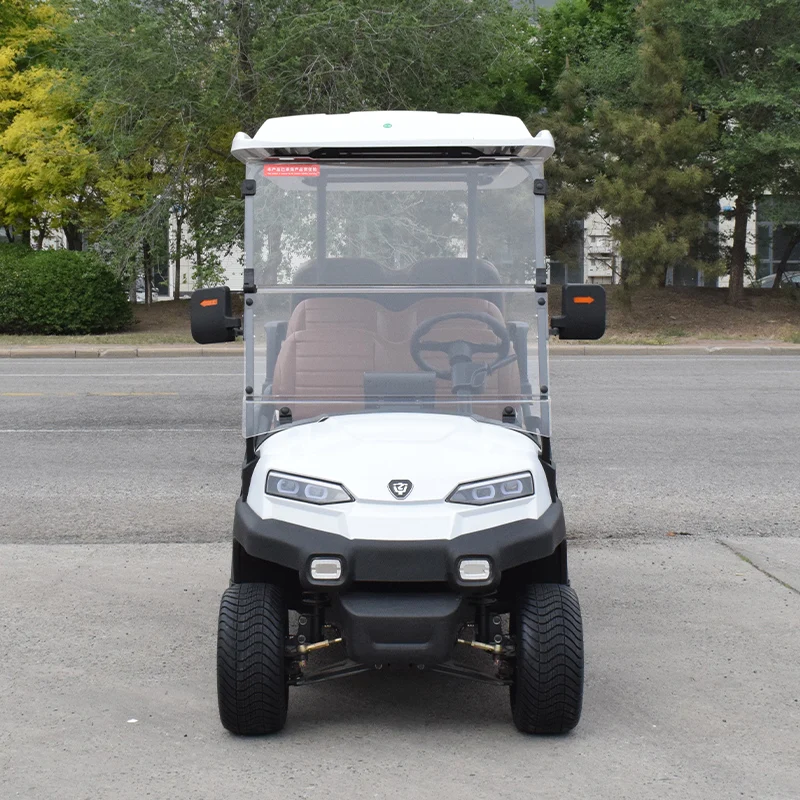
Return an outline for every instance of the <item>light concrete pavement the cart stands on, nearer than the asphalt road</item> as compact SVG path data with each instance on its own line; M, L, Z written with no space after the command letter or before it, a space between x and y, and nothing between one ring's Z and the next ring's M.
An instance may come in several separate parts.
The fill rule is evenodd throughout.
M219 725L224 545L0 547L0 795L800 796L800 596L714 541L573 548L583 719L513 728L507 691L368 673L293 689L276 737Z

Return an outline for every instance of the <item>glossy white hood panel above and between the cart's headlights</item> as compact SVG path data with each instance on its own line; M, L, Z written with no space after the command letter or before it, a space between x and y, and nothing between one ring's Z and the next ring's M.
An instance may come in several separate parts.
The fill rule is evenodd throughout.
M466 416L367 413L287 427L259 450L267 470L340 483L357 500L442 501L461 483L533 469L536 444ZM390 481L410 481L398 501Z

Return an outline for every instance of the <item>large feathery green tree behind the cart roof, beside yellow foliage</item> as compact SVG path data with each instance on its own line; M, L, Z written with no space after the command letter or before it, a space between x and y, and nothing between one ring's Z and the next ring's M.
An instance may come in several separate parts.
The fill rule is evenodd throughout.
M215 251L241 241L230 142L266 117L528 109L533 29L506 0L60 2L73 20L63 64L81 78L103 165L108 218L91 227L126 269L166 207L178 272L184 223L202 275L214 272Z

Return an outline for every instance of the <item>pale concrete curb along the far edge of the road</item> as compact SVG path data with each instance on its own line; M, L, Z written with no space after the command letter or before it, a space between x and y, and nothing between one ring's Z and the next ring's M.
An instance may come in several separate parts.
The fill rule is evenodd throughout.
M529 353L535 353L530 349ZM126 345L109 347L67 347L22 345L0 347L0 358L198 358L202 356L236 356L241 358L241 345ZM638 345L590 344L550 345L553 356L800 356L800 345Z

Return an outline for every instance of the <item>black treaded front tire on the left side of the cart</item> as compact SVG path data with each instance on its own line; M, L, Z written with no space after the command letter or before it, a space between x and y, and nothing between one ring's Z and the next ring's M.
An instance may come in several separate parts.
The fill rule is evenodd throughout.
M217 635L219 717L231 733L286 724L286 606L279 586L235 583L222 595Z

